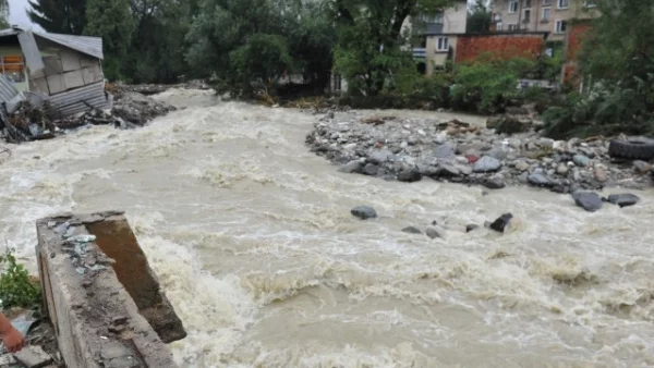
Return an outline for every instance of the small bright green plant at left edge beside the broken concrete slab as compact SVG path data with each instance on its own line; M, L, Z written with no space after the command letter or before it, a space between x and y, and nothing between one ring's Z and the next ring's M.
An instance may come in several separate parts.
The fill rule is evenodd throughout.
M32 308L40 304L40 286L31 278L23 265L8 252L0 257L0 305L2 308Z

